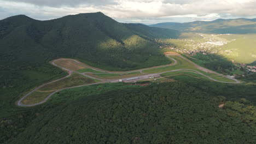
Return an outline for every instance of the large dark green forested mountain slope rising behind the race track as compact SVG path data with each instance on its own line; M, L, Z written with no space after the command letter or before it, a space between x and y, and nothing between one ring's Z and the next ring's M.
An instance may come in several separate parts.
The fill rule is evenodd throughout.
M33 20L25 15L1 20L0 117L11 115L13 111L9 108L15 100L32 88L66 75L49 64L56 58L76 58L108 70L170 63L150 39L158 35L146 35L144 39L139 36L144 33L131 30L102 13L69 15L48 21Z

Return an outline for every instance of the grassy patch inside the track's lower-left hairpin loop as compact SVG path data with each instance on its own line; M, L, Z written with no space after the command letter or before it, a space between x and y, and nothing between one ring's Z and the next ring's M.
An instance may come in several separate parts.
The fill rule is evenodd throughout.
M32 94L28 95L22 103L29 105L29 104L36 104L40 101L43 101L50 93L52 92L33 92Z

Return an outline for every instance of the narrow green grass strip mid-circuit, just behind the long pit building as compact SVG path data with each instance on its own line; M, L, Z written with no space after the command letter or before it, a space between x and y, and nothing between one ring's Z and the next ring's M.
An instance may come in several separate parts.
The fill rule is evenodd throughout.
M99 79L125 79L127 77L133 77L133 76L141 76L144 75L140 73L139 71L133 72L133 73L121 73L121 74L88 74L91 76L95 76Z

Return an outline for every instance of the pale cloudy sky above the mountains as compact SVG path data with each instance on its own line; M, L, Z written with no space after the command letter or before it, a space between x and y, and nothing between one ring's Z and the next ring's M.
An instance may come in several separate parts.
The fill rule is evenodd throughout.
M101 11L119 22L159 23L256 18L256 0L0 0L0 19L37 20Z

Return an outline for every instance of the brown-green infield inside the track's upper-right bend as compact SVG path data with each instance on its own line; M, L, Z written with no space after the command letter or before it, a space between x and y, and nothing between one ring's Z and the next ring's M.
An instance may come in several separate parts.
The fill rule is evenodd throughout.
M193 64L189 63L188 61L185 61L185 59L179 57L179 56L170 56L174 59L176 59L177 64L162 67L162 68L155 68L155 69L149 69L149 70L143 70L143 73L147 74L154 74L154 73L161 73L165 71L175 70L175 69L194 69L198 70Z

